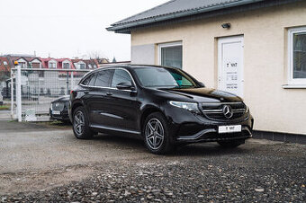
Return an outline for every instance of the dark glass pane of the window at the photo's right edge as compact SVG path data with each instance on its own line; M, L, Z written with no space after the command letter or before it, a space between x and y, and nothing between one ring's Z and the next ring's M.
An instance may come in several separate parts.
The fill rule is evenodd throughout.
M306 32L293 34L293 79L306 78Z

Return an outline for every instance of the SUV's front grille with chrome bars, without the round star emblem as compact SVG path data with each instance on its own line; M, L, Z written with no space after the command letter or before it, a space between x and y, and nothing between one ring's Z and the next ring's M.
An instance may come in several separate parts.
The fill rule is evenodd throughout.
M232 116L227 118L223 113L223 108L228 105L232 110ZM233 120L240 119L246 112L246 105L243 102L205 102L202 103L202 113L208 119Z

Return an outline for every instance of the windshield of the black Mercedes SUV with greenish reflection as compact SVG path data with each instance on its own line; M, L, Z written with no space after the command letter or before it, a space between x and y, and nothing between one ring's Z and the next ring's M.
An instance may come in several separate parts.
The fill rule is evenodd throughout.
M163 67L139 67L134 69L145 87L190 88L198 87L183 71Z

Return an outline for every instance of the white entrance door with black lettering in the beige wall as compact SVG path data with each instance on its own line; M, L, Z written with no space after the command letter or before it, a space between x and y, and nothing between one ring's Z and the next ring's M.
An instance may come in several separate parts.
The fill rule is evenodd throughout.
M218 40L218 89L243 97L243 36Z

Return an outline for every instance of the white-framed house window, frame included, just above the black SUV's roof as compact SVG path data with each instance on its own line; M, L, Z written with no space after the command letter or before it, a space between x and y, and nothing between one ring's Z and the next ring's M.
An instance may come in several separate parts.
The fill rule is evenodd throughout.
M183 67L183 46L182 42L158 44L158 65Z

